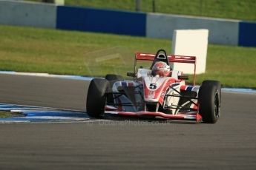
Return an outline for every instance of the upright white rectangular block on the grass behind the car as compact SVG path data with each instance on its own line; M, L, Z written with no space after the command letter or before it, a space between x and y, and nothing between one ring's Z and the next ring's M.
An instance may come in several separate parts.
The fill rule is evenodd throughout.
M197 74L206 72L209 30L174 30L171 54L197 57ZM171 67L194 74L194 64L174 63Z

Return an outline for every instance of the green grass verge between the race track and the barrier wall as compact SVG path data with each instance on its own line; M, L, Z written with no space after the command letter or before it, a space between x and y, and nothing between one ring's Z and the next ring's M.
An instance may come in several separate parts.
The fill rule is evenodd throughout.
M96 72L90 72L85 65L91 62L95 51L103 50L104 53L104 49L111 47L127 50L121 71L125 74L132 71L134 52L154 53L159 49L170 52L171 41L0 25L0 70L104 76L112 72L108 63L104 67L91 63ZM256 48L209 44L206 73L197 75L197 83L213 79L224 86L256 88L255 54Z

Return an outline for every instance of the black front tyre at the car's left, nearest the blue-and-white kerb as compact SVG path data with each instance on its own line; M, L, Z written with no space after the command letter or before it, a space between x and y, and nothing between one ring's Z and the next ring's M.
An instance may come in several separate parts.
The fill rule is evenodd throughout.
M109 89L109 82L105 79L94 78L91 81L86 101L86 111L89 116L100 117L104 114L107 99L105 92Z

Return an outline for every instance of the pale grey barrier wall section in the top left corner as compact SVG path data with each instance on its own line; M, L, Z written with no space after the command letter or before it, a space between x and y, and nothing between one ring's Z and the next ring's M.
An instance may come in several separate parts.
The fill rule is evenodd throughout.
M56 5L0 1L0 24L56 28Z

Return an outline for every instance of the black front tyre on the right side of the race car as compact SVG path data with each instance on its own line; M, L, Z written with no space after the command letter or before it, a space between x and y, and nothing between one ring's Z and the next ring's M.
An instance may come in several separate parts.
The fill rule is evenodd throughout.
M200 86L198 103L199 113L204 123L216 123L220 116L220 83L206 81Z

